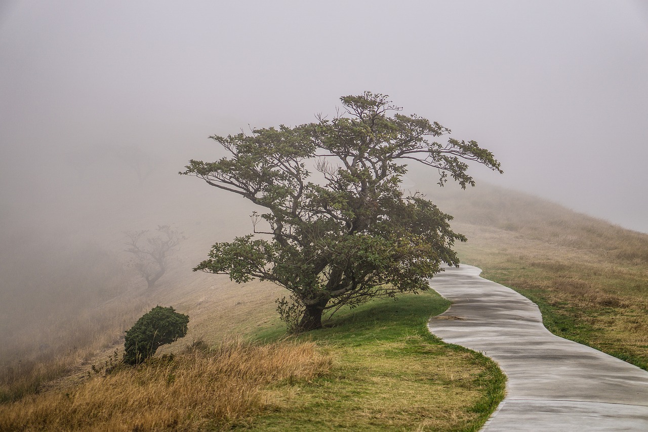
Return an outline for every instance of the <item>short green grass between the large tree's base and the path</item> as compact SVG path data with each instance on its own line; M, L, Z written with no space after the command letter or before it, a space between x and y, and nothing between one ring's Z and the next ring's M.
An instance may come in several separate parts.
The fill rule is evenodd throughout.
M259 431L476 431L503 399L505 377L487 357L431 335L428 318L449 302L437 293L373 301L338 313L314 341L334 357L312 382L268 389L277 402L240 424ZM255 337L273 341L283 328Z

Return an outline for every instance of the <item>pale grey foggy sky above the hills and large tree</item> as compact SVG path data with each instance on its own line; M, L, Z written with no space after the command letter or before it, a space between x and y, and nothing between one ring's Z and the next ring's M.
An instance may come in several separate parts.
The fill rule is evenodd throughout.
M646 1L5 1L0 216L117 197L135 150L186 184L207 136L364 90L494 152L479 179L648 232Z

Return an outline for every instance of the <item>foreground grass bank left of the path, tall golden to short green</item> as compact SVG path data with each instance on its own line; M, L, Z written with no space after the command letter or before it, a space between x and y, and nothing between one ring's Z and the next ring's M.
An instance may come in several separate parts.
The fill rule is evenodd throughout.
M0 432L476 431L505 378L490 359L430 335L428 318L447 306L434 292L410 294L299 337L266 324L254 335L264 342L197 342L0 403Z

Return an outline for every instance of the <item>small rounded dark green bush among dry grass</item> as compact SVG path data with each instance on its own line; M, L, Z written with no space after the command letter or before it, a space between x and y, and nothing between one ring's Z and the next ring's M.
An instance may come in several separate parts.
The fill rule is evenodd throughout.
M173 307L156 306L126 330L124 363L137 365L156 354L157 348L187 335L189 315Z

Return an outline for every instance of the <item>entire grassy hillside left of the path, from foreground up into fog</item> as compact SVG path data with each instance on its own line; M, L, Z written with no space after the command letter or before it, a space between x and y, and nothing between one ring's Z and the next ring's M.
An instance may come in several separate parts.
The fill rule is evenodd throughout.
M426 330L448 306L432 292L339 311L325 330L285 341L279 287L191 271L214 241L250 228L248 208L197 190L169 188L166 199L135 190L110 220L84 215L97 253L80 231L76 243L62 241L58 233L70 231L58 227L5 235L16 248L5 250L12 265L1 269L13 296L2 317L16 333L3 335L10 344L0 352L0 431L474 430L502 399L494 363ZM161 223L187 239L147 290L122 232ZM107 372L123 331L157 304L189 315L187 337L136 370ZM21 310L32 310L27 320Z

